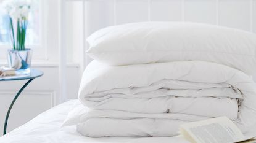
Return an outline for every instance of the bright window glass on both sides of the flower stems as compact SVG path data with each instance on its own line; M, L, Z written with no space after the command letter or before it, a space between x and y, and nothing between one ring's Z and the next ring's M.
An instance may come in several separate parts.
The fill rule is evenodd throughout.
M1 0L0 0L1 2ZM27 29L26 45L39 45L41 42L41 14L40 14L41 1L35 1L35 11L30 13L29 24ZM0 46L6 47L11 44L9 34L9 17L0 9ZM34 46L33 46L34 47Z

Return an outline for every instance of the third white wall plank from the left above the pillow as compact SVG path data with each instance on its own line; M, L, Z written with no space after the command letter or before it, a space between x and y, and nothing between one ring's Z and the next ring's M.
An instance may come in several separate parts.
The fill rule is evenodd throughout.
M182 1L152 0L151 21L182 21Z

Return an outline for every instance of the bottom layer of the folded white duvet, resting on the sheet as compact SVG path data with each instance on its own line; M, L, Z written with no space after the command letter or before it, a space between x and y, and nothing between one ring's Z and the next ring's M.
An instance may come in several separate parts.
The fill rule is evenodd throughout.
M178 135L178 127L183 123L208 119L186 114L138 114L114 110L89 110L76 106L68 114L64 125L77 125L84 136L153 136Z

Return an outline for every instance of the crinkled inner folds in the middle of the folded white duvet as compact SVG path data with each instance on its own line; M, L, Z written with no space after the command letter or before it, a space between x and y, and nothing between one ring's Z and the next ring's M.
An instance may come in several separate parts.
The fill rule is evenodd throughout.
M231 120L236 120L238 105L234 98L242 98L242 96L230 87L225 84L161 80L148 87L113 89L86 95L88 98L84 103L98 110L139 113L171 112L207 117L226 115ZM212 97L213 95L215 98Z

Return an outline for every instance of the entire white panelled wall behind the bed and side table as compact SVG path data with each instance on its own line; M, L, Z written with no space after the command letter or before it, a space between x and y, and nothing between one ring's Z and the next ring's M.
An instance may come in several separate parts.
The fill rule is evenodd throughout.
M45 15L48 20L44 24L46 56L38 60L33 57L33 67L44 71L44 76L31 82L17 100L10 114L9 131L60 102L59 1L44 1L51 2L46 12L51 17ZM81 72L90 61L85 56L88 45L84 39L105 26L138 21L194 21L256 32L256 0L76 0L67 1L67 6L68 98L77 97ZM10 101L22 83L0 82L0 132Z

